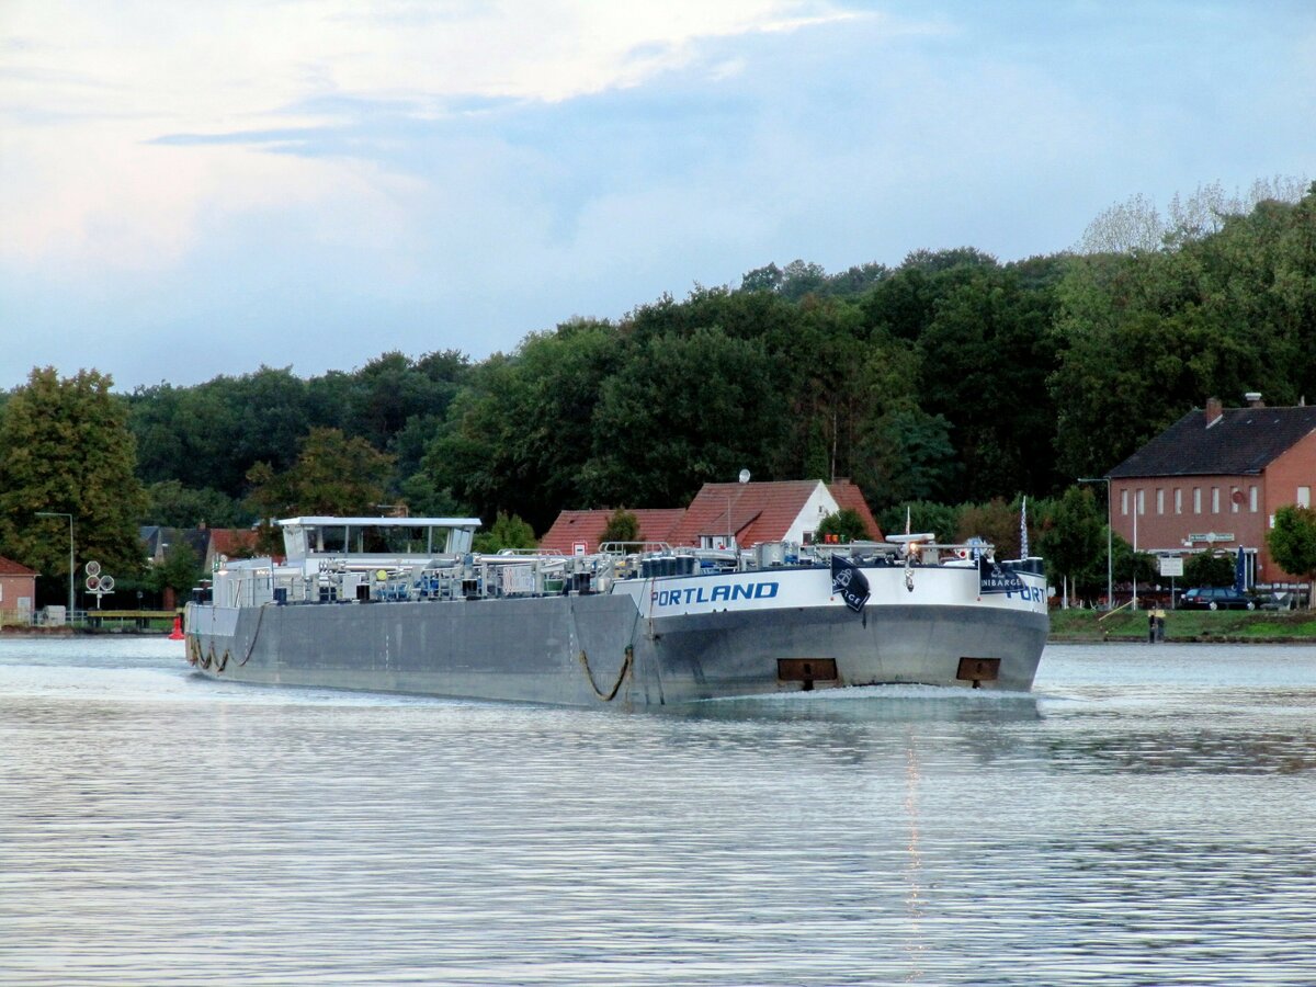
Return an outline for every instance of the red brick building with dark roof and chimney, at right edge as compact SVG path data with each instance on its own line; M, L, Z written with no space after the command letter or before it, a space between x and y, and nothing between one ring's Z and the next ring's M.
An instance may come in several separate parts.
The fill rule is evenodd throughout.
M1111 470L1113 529L1140 551L1244 550L1248 584L1298 582L1266 549L1275 511L1311 507L1316 407L1242 408L1212 397Z

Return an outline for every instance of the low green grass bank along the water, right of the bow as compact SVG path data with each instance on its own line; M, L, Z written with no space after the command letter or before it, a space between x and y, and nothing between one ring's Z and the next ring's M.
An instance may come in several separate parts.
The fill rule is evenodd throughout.
M1148 612L1121 611L1105 620L1098 611L1051 611L1051 641L1146 641ZM1316 613L1248 611L1166 611L1166 641L1316 644Z

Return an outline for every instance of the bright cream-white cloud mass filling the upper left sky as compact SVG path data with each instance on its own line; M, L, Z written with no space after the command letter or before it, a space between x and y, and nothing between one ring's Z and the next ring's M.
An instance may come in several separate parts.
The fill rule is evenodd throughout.
M193 250L205 213L387 197L358 162L418 175L405 145L432 146L425 124L636 87L700 39L850 14L811 0L54 0L4 16L0 262L145 270Z

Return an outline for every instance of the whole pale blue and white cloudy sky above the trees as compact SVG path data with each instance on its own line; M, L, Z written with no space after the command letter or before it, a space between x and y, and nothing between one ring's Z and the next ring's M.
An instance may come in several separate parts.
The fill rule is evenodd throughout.
M479 361L1273 176L1308 0L0 0L0 390Z

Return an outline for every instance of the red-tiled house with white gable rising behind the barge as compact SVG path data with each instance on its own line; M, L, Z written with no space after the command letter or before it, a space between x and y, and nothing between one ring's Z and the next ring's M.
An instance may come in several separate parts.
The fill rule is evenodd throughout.
M859 515L869 537L882 538L863 494L850 480L705 483L687 508L634 511L645 541L722 549L813 537L819 521L842 508ZM595 551L612 511L563 511L540 541L541 549L570 553L583 544ZM661 533L659 533L661 532Z

